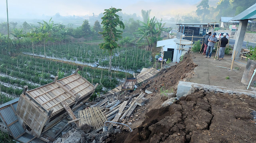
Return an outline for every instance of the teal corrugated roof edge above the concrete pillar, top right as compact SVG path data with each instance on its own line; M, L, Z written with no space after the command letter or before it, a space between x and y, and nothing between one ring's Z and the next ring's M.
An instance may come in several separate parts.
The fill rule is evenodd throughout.
M247 8L234 18L232 18L230 21L236 21L236 20L252 20L256 19L256 3L252 5L250 8Z

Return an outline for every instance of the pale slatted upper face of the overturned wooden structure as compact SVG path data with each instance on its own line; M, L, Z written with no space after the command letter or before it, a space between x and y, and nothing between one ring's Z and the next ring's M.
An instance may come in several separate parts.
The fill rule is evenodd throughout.
M94 90L94 86L90 82L79 74L72 74L26 93L37 104L48 111L52 109L52 113L54 113L63 108L60 102L65 100L69 105L73 104L76 96L79 95L79 98L83 98L92 90Z

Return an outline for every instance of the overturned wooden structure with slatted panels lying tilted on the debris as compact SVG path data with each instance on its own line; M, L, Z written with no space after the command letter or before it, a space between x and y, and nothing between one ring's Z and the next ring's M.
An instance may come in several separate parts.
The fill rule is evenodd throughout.
M22 127L34 137L42 136L68 114L87 102L96 86L76 72L44 86L27 90L24 87L16 110ZM72 116L73 115L73 116Z

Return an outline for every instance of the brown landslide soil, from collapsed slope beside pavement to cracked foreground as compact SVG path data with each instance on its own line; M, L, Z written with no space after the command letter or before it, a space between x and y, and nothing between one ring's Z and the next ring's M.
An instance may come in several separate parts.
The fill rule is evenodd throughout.
M132 118L134 131L122 132L108 139L112 143L252 143L256 124L250 121L256 99L247 95L196 90L170 106L161 107L161 90L174 89L179 80L194 76L190 54L184 61L162 71L134 91L153 91L149 102L137 108ZM126 93L127 95L128 93ZM122 98L124 95L120 95ZM131 119L131 118L130 118ZM138 124L138 126L137 126ZM134 127L136 125L136 127Z

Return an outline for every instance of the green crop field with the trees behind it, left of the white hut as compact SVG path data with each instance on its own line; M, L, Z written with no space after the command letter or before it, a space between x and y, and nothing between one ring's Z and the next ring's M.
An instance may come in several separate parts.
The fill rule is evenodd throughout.
M65 27L55 24L52 18L37 25L35 22L25 21L20 25L10 22L10 43L6 35L7 23L0 23L0 92L19 97L24 85L31 90L52 82L56 75L60 79L79 68L78 73L89 82L99 83L94 94L97 96L105 89L118 86L120 79L126 77L126 70L136 72L152 67L151 50L156 48L156 41L162 39L160 36L165 30L162 20L149 19L150 10L144 13L146 23L120 11L105 10L100 14L102 23L97 19L93 26L92 22L84 20L81 26L69 23ZM123 18L126 18L124 23ZM17 28L21 26L22 29ZM89 64L103 69L87 66ZM123 72L106 70L112 66ZM3 97L2 103L12 99Z

